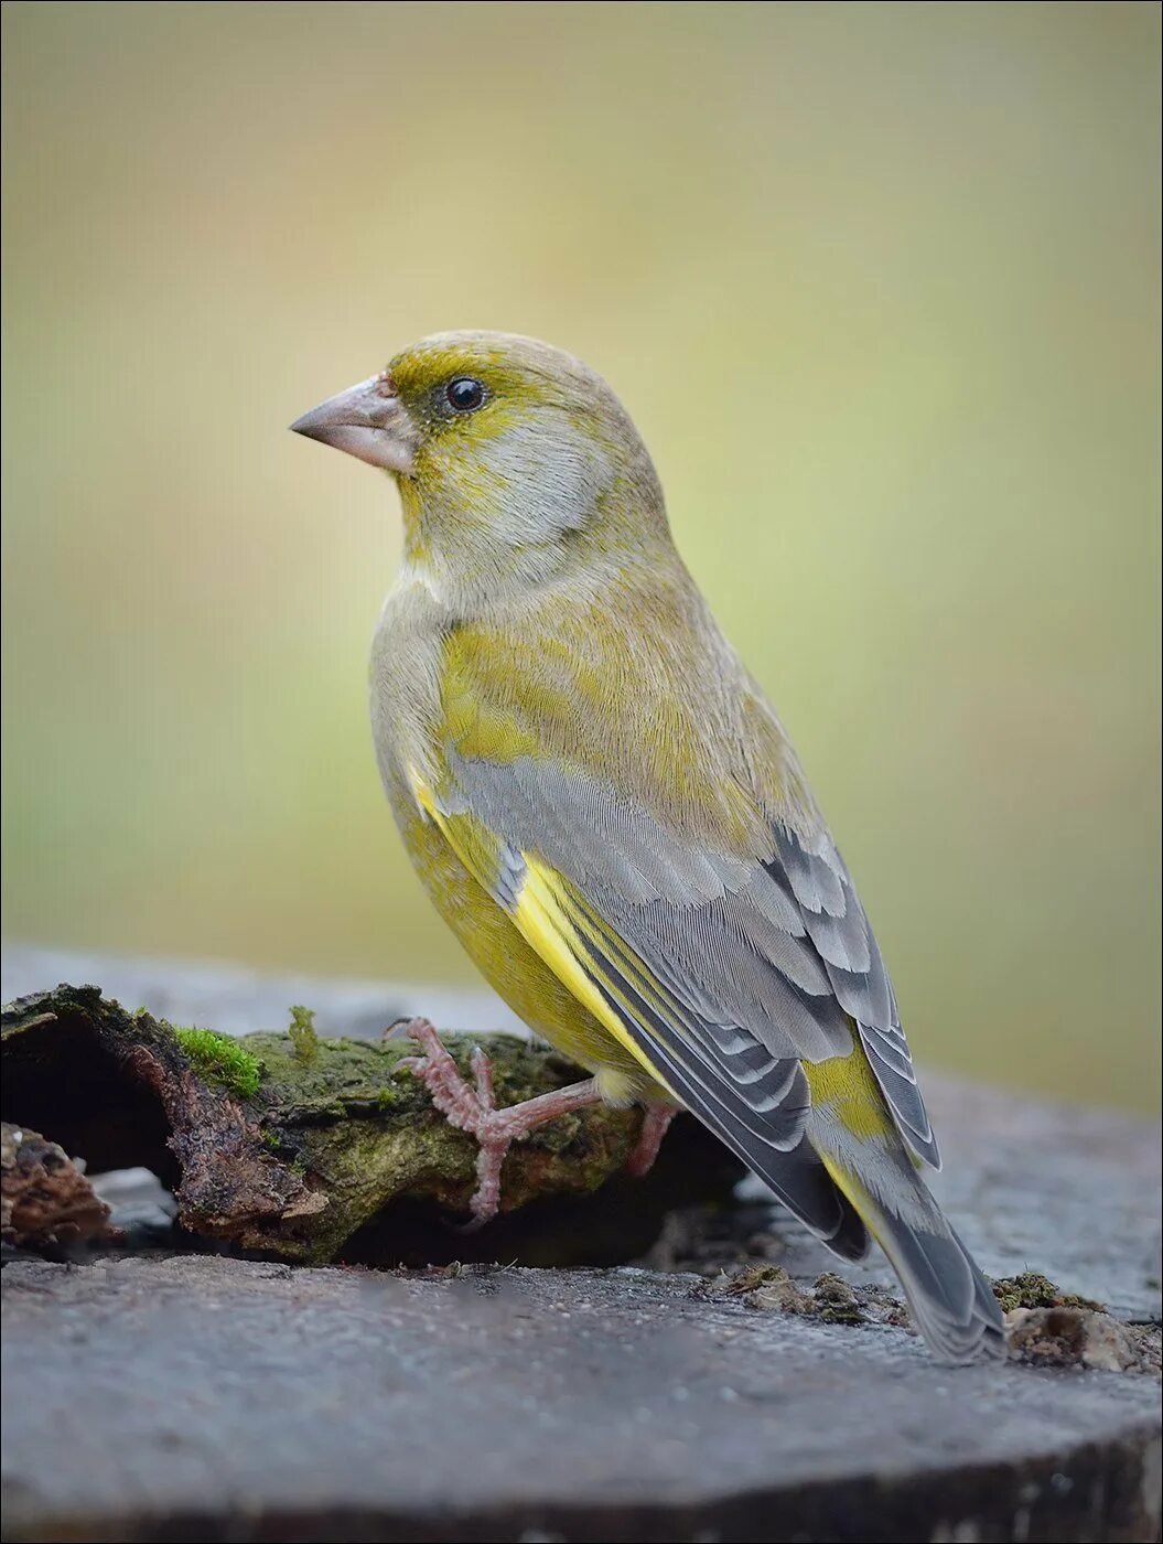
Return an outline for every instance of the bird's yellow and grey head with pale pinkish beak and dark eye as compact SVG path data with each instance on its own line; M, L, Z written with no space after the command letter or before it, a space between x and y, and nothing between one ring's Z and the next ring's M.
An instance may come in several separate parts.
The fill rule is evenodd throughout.
M392 472L413 562L538 577L597 540L665 533L649 455L578 360L500 332L443 332L292 429Z

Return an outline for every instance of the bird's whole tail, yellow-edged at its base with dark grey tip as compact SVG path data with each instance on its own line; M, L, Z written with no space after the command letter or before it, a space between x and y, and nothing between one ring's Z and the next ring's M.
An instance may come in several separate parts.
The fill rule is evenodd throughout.
M893 1201L873 1195L850 1170L824 1160L838 1187L884 1249L901 1278L913 1323L941 1362L981 1362L1006 1356L1006 1325L998 1300L969 1249L946 1221L921 1177L901 1153ZM907 1166L907 1167L905 1167Z

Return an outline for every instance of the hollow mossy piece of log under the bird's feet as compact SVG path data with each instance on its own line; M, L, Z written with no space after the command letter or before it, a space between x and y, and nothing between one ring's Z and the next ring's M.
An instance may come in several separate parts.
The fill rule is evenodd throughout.
M461 1070L480 1039L447 1036ZM580 1076L546 1047L484 1039L501 1106ZM575 1227L571 1207L600 1187L605 1237L586 1254L628 1258L649 1244L674 1200L668 1170L682 1167L685 1200L725 1197L740 1172L683 1121L668 1138L671 1163L652 1180L628 1181L640 1112L583 1110L514 1146L507 1215L478 1235L453 1234L447 1223L466 1215L475 1187L477 1146L399 1067L410 1051L398 1039L321 1039L298 1008L285 1034L231 1039L126 1013L97 987L62 985L3 1011L3 1113L83 1156L91 1172L153 1169L190 1234L304 1261L511 1254L560 1263L561 1238ZM515 1214L526 1212L518 1224ZM532 1235L541 1243L531 1248Z

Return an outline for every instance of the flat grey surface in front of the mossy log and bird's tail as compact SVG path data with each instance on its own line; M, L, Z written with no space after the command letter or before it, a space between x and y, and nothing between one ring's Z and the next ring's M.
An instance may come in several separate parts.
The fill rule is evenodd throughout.
M11 1539L1134 1539L1143 1377L935 1366L689 1275L3 1280Z

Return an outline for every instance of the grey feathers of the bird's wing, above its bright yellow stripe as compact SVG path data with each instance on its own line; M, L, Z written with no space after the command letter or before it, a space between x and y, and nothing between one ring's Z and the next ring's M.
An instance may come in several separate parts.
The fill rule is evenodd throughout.
M660 1070L680 1068L713 1102L730 1090L733 1118L790 1150L808 1110L799 1061L848 1055L855 1022L905 1141L938 1163L888 974L825 831L813 849L776 824L770 857L748 862L676 837L575 769L447 761L449 812L472 811L515 851L541 854L665 988L674 1065Z

